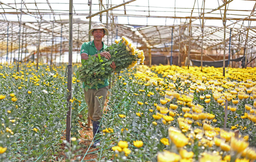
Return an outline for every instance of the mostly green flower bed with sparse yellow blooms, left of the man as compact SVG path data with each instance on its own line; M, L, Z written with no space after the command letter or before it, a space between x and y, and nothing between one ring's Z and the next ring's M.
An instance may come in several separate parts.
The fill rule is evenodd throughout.
M23 63L17 72L17 64L0 64L0 161L57 160L65 139L65 68L39 64L36 70L36 64ZM73 77L72 136L76 137L82 96L81 82Z

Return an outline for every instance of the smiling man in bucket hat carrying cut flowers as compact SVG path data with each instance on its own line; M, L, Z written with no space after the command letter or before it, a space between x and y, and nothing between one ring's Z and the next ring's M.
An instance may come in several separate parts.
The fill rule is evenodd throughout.
M93 28L89 31L89 35L93 36L93 41L84 42L81 47L81 62L84 63L85 60L88 59L88 56L96 56L98 57L98 53L101 57L105 57L106 59L110 59L111 55L105 51L108 47L102 42L102 38L105 35L108 35L108 29L102 23L96 23L93 25ZM111 68L113 70L116 69L116 64L114 62L111 63ZM90 119L93 121L93 137L96 138L95 135L99 133L99 119L102 117L102 109L101 105L96 96L103 96L103 105L108 92L108 78L105 78L104 84L98 84L96 87L92 87L88 89L86 92L84 90L84 98L88 106L88 114ZM83 83L83 88L85 87ZM97 147L100 145L99 139L94 140L93 147Z

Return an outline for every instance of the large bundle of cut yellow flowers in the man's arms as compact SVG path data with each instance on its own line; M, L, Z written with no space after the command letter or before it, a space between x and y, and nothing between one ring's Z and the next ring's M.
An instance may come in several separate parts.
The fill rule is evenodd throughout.
M116 71L121 71L125 68L134 67L138 61L143 64L145 59L143 50L136 49L132 42L124 36L121 40L116 40L106 51L110 53L111 59L101 57L100 54L98 54L98 57L89 56L77 70L79 79L89 88L97 84L104 84L104 79L108 78L113 72L110 67L113 61L116 64ZM85 87L85 90L88 87Z

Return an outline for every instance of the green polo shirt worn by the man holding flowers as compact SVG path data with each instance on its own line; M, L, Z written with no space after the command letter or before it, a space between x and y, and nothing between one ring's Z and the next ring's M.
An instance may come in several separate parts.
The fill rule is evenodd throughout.
M105 45L103 42L102 42L102 48L98 51L94 45L94 41L91 41L91 42L84 42L82 44L82 47L81 47L81 50L80 50L80 55L82 53L87 53L88 55L90 56L93 56L95 55L96 53L102 53L105 51L105 49L108 47L107 45ZM84 64L85 60L82 59L81 60L82 64ZM95 85L97 86L98 88L102 88L102 87L106 87L108 86L108 78L105 78L104 80L104 84L98 84L98 85ZM96 87L93 86L91 89L96 89ZM85 87L85 84L83 82L83 88ZM88 87L88 86L87 86Z

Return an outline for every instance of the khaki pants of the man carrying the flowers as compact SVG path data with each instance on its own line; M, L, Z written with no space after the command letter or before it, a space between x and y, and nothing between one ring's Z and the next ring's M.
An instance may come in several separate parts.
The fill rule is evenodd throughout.
M108 86L99 88L98 90L88 89L87 92L84 90L84 99L87 103L88 114L91 120L98 121L102 117L101 104L104 106L107 92ZM101 104L99 103L98 98L96 98L96 96L103 96L103 100L102 98L99 99L102 102Z

